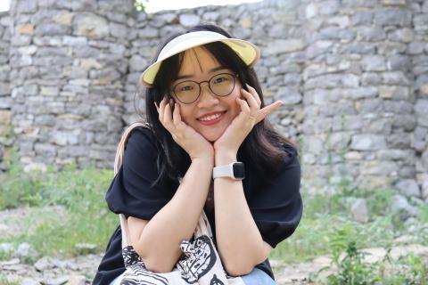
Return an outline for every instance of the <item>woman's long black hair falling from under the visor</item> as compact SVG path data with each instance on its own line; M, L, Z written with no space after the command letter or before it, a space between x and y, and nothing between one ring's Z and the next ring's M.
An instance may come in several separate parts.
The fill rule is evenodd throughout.
M169 37L152 62L156 61L161 49L173 38L194 31L212 31L231 37L223 28L218 26L199 25L184 33ZM235 71L243 88L247 89L245 84L253 86L259 94L261 108L265 106L259 79L254 69L249 68L232 49L221 42L202 45L202 47L211 53L221 66ZM169 86L177 78L183 58L184 53L179 53L163 61L152 87L146 88L144 93L145 120L157 138L159 176L153 184L159 183L162 179L178 182L178 179L185 175L191 164L189 155L172 139L169 131L161 125L158 111L154 106L154 102L159 105L164 96L167 96L168 99L172 98L169 94ZM142 116L141 113L140 115ZM284 151L284 144L297 149L294 142L276 132L268 118L263 119L253 127L237 153L237 159L245 164L247 183L251 183L251 174L276 173L277 168L281 166L284 157L287 155L287 152Z

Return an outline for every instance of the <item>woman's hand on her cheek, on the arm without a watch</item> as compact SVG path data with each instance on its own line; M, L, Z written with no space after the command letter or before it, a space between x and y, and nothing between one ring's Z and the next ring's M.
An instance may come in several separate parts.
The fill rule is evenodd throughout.
M192 126L188 126L181 119L180 106L174 102L174 112L171 111L168 99L164 97L158 106L154 105L159 113L161 124L169 131L172 138L185 152L194 159L214 159L214 148L202 134L196 132ZM172 114L171 114L172 113Z

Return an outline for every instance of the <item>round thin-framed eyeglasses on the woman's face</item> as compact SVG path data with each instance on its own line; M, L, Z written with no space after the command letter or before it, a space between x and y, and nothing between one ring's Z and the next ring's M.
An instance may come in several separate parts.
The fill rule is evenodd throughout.
M172 87L172 93L176 95L179 102L184 104L191 104L198 100L201 95L203 82L207 82L212 94L225 97L234 91L235 88L235 77L237 74L230 73L219 73L209 80L196 82L193 80L185 80L177 83Z

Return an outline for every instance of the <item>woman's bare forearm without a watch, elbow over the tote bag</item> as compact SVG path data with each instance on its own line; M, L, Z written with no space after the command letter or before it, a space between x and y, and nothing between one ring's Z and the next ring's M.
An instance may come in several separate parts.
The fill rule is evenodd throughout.
M145 225L136 251L153 272L170 272L193 236L210 187L212 159L195 159L174 197Z

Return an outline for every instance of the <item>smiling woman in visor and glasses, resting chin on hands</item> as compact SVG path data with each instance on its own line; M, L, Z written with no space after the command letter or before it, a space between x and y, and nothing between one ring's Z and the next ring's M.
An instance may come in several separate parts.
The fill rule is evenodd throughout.
M144 71L150 127L132 131L106 199L128 217L148 270L174 268L203 210L226 273L275 284L268 255L300 222L300 164L265 118L282 102L264 106L251 68L258 59L255 45L201 25L169 38ZM120 234L94 284L119 284Z

